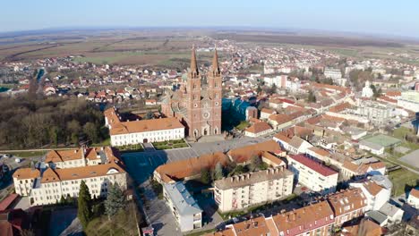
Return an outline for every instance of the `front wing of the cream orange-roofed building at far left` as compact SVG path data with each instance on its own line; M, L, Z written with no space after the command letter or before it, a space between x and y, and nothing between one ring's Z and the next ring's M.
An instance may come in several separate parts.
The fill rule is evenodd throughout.
M53 167L46 169L21 168L13 173L14 188L17 194L29 197L30 206L56 204L62 197L77 198L81 181L86 182L92 198L106 197L110 184L117 183L126 190L127 176L119 158L105 156L102 160L80 167L56 168L50 161L48 165ZM80 162L87 163L87 160L80 158L77 163Z

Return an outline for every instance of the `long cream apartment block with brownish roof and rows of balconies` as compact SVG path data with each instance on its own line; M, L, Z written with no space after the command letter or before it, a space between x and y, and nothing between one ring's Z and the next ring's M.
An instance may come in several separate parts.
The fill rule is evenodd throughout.
M223 178L214 182L214 198L221 212L241 210L290 195L293 178L284 166Z

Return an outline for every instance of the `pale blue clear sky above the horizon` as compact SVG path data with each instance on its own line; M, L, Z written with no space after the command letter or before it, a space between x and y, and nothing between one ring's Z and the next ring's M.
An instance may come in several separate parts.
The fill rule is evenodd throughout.
M0 31L252 27L419 38L417 0L3 0Z

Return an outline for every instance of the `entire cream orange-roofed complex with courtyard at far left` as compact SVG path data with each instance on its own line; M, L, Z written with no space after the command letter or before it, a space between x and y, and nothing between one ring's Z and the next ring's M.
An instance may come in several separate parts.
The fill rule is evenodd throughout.
M127 188L124 163L111 147L52 150L46 160L46 169L21 168L13 173L16 193L29 197L30 206L56 204L62 197L76 198L81 181L86 182L92 198L106 197L111 184L117 183L122 190ZM64 162L76 164L60 164Z

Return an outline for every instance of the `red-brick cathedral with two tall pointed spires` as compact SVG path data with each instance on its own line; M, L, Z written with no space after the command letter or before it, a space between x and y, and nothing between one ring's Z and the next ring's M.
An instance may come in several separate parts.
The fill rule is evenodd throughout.
M199 139L202 136L221 134L222 79L218 66L217 49L207 75L202 75L192 48L191 68L182 77L181 86L167 91L161 101L163 114L176 117L185 126L186 135Z

